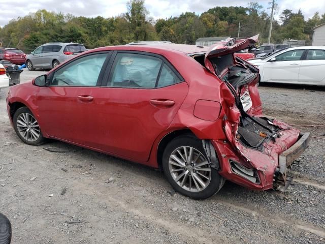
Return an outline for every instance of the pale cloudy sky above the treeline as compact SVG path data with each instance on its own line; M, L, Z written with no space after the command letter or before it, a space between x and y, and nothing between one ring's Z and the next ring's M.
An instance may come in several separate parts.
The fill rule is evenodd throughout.
M270 13L268 4L272 0L257 1L265 10ZM216 6L243 6L247 7L248 2L254 0L146 0L145 6L150 12L150 16L157 18L168 18L179 16L184 12L195 12L201 14ZM292 9L298 12L301 8L305 19L312 17L316 11L320 14L325 12L324 0L276 0L279 5L278 16L284 9ZM11 19L23 17L28 13L36 12L39 9L47 11L71 13L75 16L85 17L112 17L126 12L127 0L20 0L13 4L9 0L0 0L0 26L6 25Z

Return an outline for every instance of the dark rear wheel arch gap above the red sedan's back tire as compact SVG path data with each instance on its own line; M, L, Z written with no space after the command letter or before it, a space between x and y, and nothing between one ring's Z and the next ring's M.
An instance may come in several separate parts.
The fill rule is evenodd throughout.
M187 128L172 131L166 134L163 138L161 138L161 140L158 143L157 154L156 154L156 160L158 163L159 170L163 171L163 154L168 143L171 142L176 137L183 136L183 135L191 135L197 138L197 136L190 129Z

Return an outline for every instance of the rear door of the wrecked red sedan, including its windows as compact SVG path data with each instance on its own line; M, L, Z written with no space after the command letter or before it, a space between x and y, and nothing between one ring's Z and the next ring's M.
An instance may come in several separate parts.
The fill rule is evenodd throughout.
M105 87L94 94L90 144L145 162L185 99L188 85L166 59L147 52L114 52L109 69Z

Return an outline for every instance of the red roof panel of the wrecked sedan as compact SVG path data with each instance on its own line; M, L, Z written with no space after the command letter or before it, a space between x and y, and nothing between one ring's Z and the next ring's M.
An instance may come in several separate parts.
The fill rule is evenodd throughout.
M207 52L209 47L187 45L187 44L148 44L148 45L124 45L124 46L108 46L91 49L88 52L105 51L105 50L129 50L129 51L170 51L170 52L182 52L184 54Z

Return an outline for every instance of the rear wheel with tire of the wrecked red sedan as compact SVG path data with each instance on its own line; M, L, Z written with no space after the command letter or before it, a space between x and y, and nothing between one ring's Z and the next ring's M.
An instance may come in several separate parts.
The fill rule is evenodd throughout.
M186 148L186 156L184 148ZM186 163L186 159L190 158L190 150L192 159L188 162L192 165ZM182 164L175 160L175 156ZM163 170L175 191L198 200L216 194L225 181L216 169L210 167L202 142L189 134L176 137L166 146L163 155ZM204 185L200 184L198 177Z

